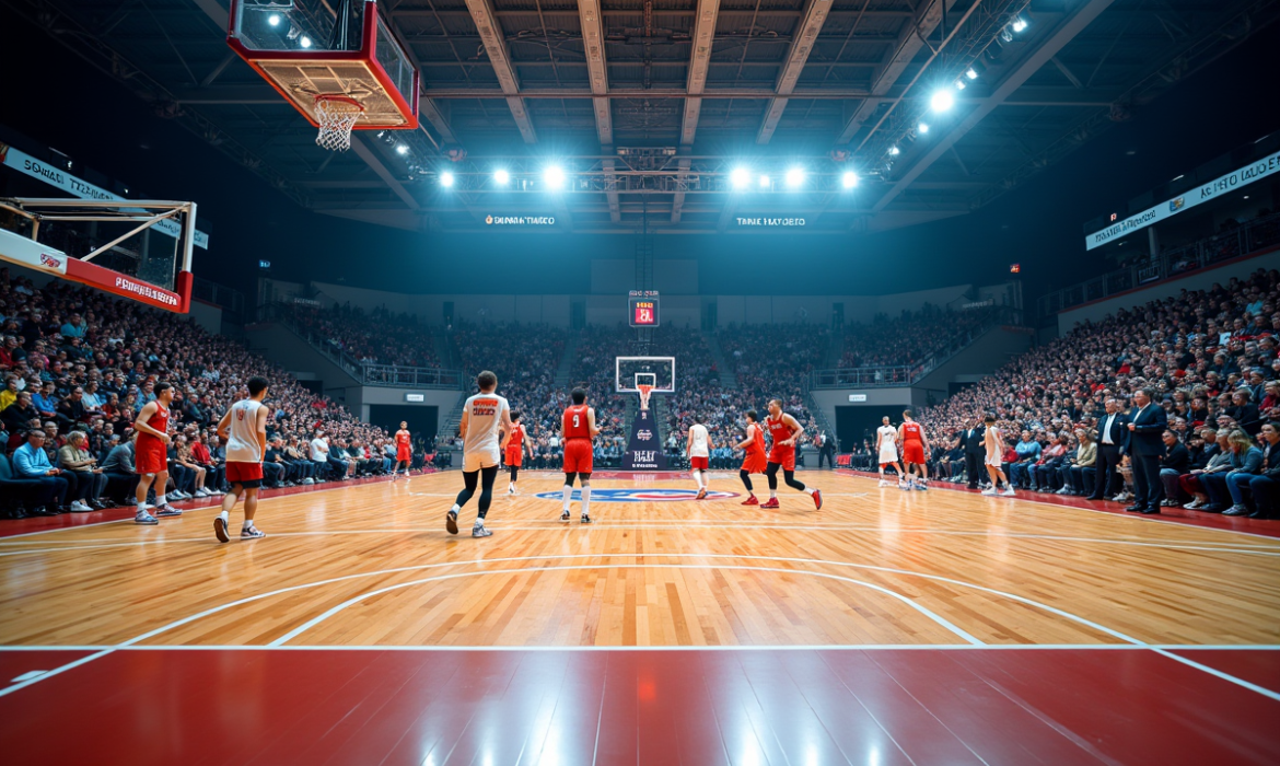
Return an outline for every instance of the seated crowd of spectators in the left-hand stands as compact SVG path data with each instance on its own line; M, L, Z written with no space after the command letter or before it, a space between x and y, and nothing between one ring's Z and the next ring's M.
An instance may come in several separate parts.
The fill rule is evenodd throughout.
M133 301L60 281L37 288L0 269L0 448L10 459L0 478L38 484L15 484L29 492L5 492L3 510L129 505L133 420L159 382L175 388L169 498L224 492L216 424L253 375L270 382L268 487L390 470L394 444L383 429L241 343Z

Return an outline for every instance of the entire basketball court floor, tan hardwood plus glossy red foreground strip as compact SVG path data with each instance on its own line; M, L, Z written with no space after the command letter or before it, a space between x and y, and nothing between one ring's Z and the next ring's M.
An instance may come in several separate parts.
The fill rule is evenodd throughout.
M219 544L211 507L6 537L5 739L15 762L1274 762L1274 530L801 475L822 511L599 473L595 524L563 524L530 471L472 539L442 473L271 497L261 541Z

